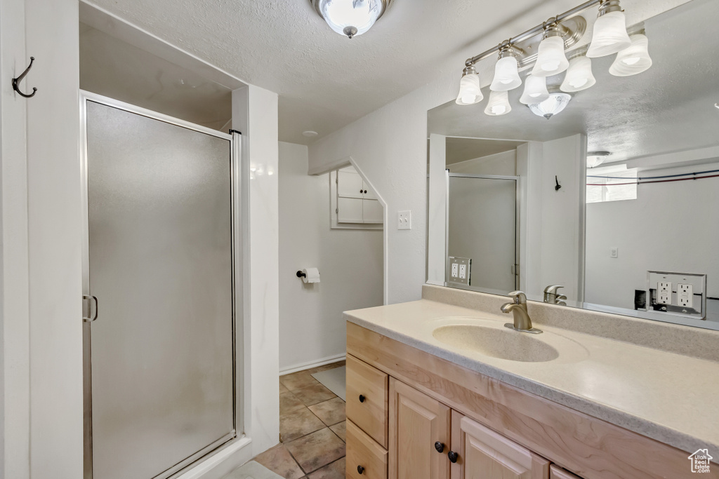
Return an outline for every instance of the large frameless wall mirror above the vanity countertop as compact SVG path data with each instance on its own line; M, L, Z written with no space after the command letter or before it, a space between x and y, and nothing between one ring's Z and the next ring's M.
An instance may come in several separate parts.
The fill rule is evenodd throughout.
M678 3L628 27L649 70L594 58L549 119L523 88L429 111L430 283L719 330L719 1Z

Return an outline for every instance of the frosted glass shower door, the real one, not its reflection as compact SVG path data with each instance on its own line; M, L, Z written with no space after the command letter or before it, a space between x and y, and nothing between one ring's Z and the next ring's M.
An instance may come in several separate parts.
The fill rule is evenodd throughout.
M86 101L93 479L165 478L236 435L224 136Z

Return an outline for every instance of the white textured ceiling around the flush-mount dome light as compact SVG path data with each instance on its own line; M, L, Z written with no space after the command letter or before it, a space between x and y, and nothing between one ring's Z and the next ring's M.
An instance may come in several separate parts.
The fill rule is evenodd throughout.
M502 40L488 32L515 20L533 27L577 0L394 0L370 32L352 40L332 32L309 0L92 3L279 93L280 139L308 144L313 139L302 131L324 136L443 73L459 77L466 57L479 52L467 47Z

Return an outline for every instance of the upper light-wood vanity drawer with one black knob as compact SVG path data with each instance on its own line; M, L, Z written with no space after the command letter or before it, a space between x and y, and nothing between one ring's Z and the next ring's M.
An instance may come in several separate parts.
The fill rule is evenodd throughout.
M347 419L387 449L388 375L347 355Z

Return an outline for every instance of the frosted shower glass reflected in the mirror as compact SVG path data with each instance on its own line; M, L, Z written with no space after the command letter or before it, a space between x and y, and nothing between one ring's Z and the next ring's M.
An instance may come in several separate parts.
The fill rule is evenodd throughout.
M518 287L517 182L449 176L448 254L472 259L470 287Z

